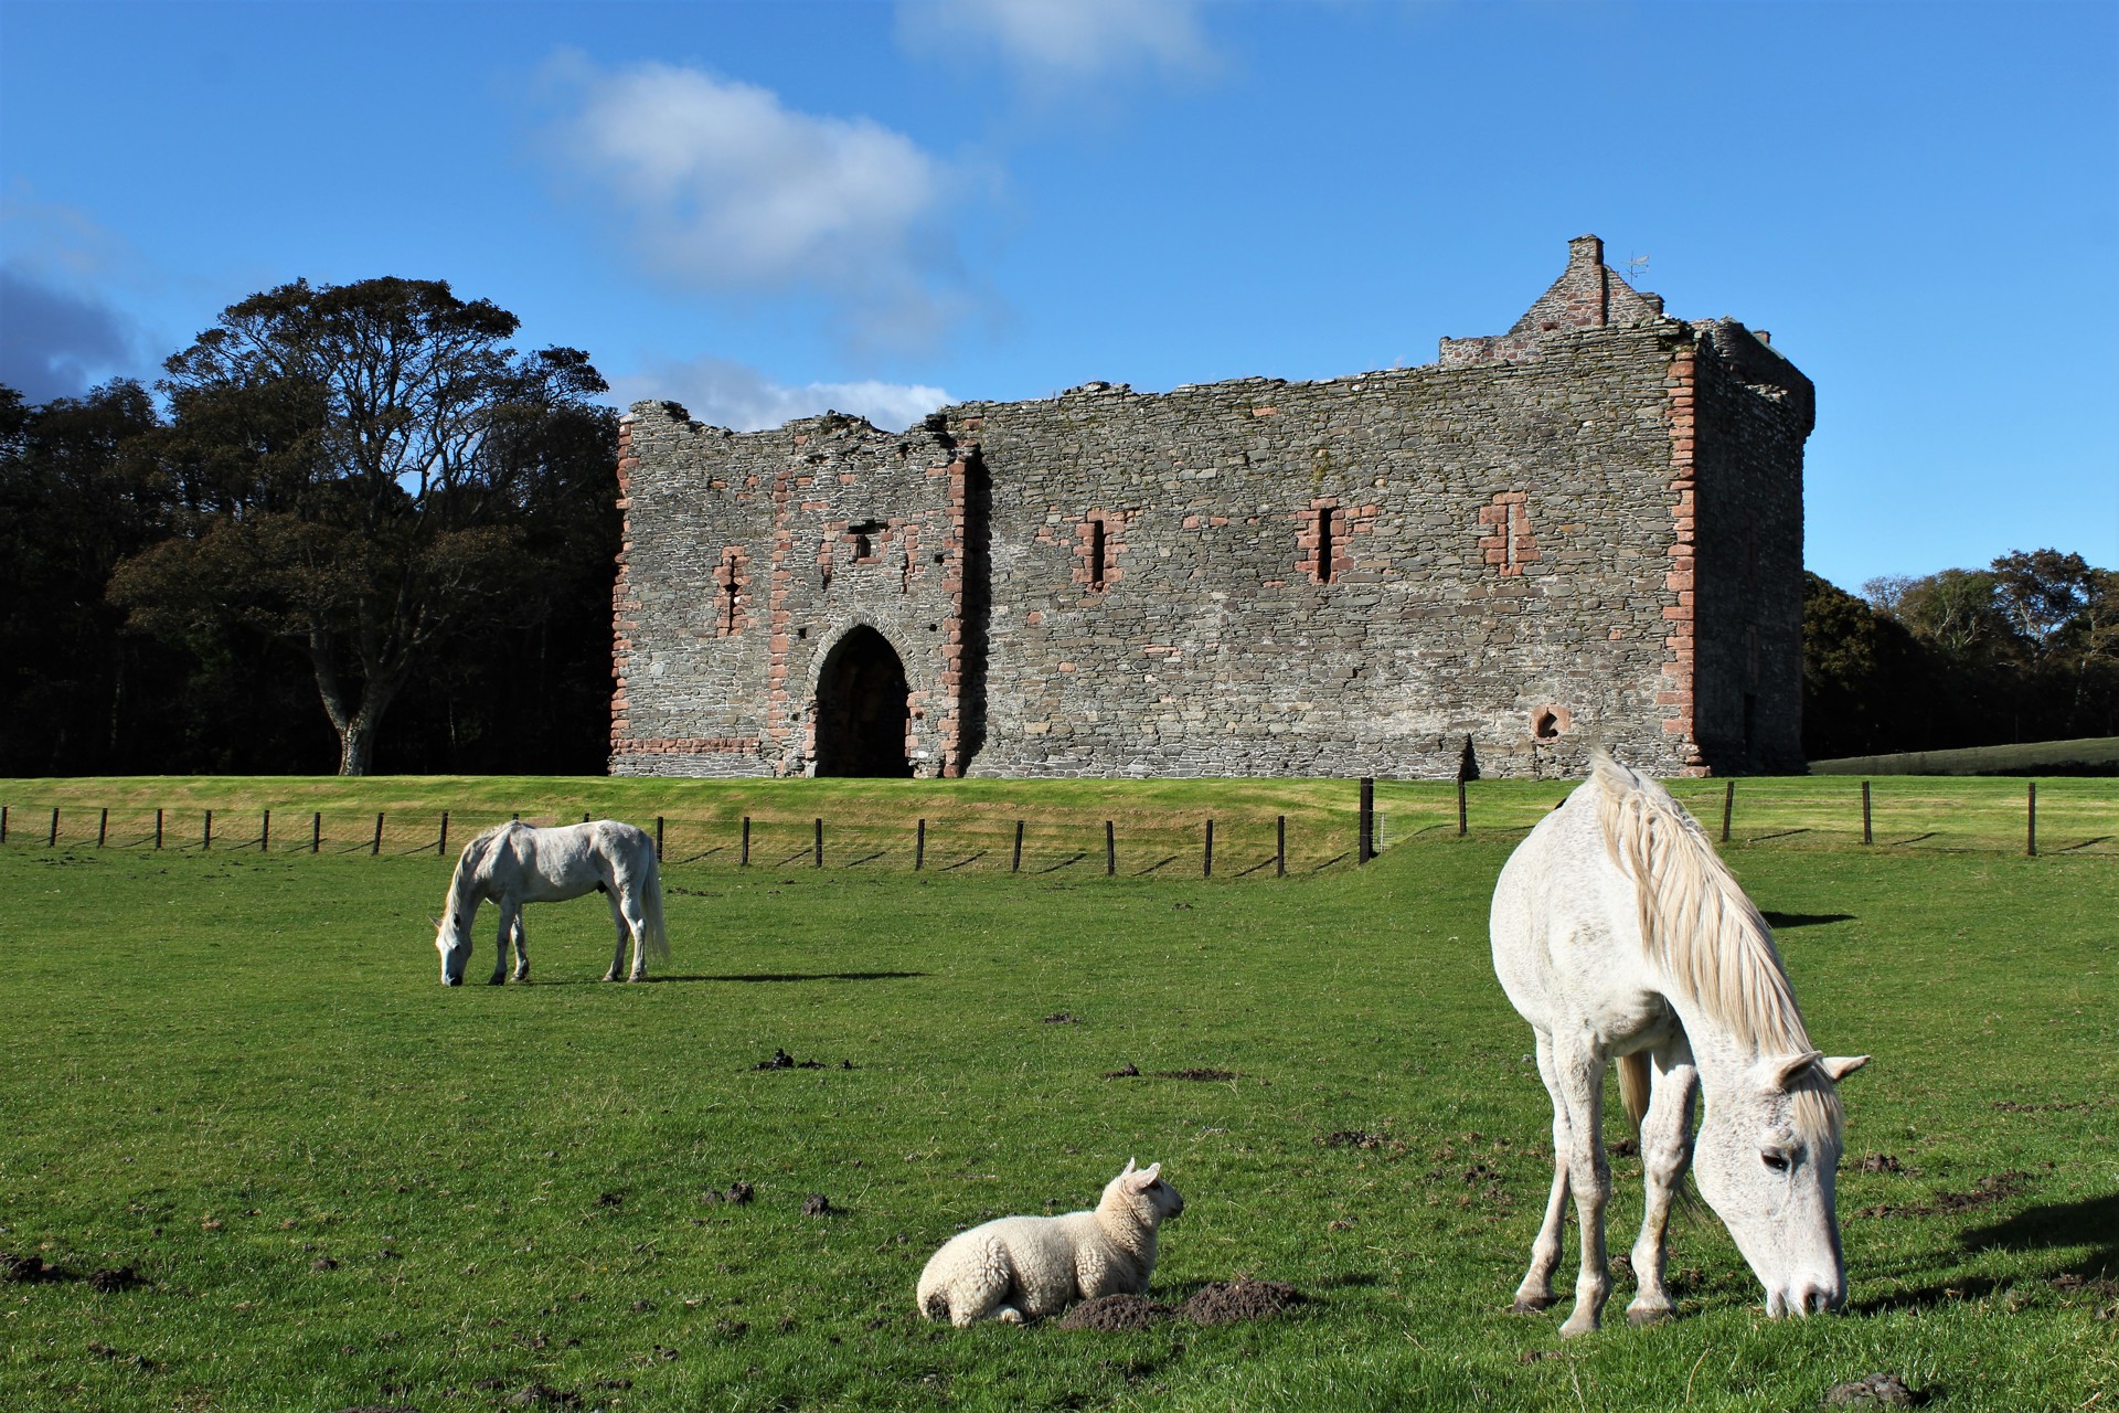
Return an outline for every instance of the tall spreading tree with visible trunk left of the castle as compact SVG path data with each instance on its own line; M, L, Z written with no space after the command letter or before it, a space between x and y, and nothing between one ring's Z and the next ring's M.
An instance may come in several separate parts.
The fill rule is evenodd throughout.
M112 602L163 638L295 644L339 773L364 775L415 672L540 602L536 508L615 494L604 379L578 350L515 354L517 328L432 280L297 280L225 309L163 364L174 534L117 568Z

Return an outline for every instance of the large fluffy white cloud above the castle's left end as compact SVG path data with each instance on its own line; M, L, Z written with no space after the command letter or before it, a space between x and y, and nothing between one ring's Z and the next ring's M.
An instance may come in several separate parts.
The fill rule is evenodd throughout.
M966 299L937 220L947 167L862 117L672 64L606 72L562 55L553 155L608 193L657 275L733 294L820 294L858 341L907 347Z

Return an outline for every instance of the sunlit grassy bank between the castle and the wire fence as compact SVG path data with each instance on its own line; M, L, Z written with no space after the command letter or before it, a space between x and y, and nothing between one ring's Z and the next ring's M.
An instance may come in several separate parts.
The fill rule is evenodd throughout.
M1672 790L1721 835L1731 782L1678 780ZM1897 852L2022 852L2024 780L1894 775L1871 782L1871 839ZM2038 849L2119 856L2119 780L2055 777L2038 788ZM1473 839L1519 839L1574 782L1477 780L1466 786ZM1729 843L1841 847L1863 839L1860 780L1746 777L1733 782ZM449 813L449 852L477 830L521 816L551 824L585 813L653 826L665 858L733 866L742 820L752 862L805 862L824 820L826 866L911 869L926 820L928 869L1009 871L1023 822L1023 871L1102 873L1104 824L1123 875L1197 875L1214 820L1216 875L1274 875L1286 818L1288 869L1350 864L1358 790L1352 780L610 780L532 775L339 777L97 777L4 780L8 843L150 847L157 811L165 849L203 849L212 811L216 849L299 854L434 854ZM1379 780L1379 847L1458 839L1452 782ZM267 811L271 813L267 824ZM377 843L375 820L381 816Z

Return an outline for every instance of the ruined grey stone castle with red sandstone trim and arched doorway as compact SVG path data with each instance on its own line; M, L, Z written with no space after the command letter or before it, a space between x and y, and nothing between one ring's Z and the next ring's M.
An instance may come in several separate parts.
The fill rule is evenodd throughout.
M1316 383L625 419L617 775L1799 769L1812 386L1570 242Z

